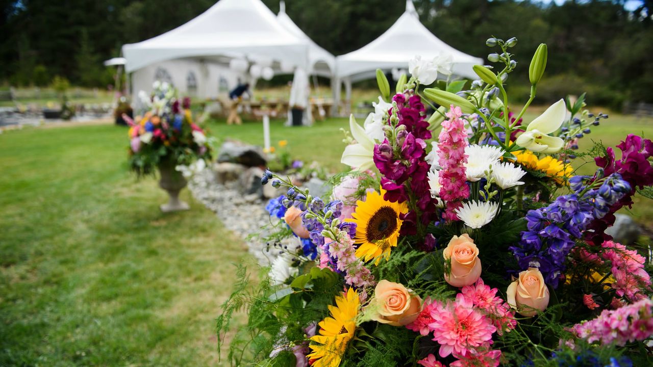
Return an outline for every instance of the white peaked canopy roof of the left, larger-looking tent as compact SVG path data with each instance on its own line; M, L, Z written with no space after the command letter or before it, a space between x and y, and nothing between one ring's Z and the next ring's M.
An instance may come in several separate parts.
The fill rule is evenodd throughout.
M127 72L170 59L271 58L306 67L308 43L279 24L261 0L221 0L197 18L135 44L125 44Z

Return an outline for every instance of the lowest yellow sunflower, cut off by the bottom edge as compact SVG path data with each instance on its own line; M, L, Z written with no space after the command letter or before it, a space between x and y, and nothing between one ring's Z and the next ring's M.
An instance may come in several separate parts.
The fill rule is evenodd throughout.
M345 295L336 296L336 304L337 307L328 306L332 317L320 321L319 335L311 337L315 343L309 345L311 353L306 357L313 361L313 367L338 367L347 343L354 337L360 306L358 293L349 288Z

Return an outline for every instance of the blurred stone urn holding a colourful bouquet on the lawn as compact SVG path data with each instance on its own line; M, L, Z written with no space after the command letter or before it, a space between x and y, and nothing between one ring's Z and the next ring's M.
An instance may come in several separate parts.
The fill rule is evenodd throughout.
M211 159L211 146L204 131L193 123L191 100L178 98L176 89L166 82L155 82L150 96L140 91L139 97L148 111L132 120L123 114L129 127L129 165L138 174L151 174L159 168L159 185L170 196L161 205L164 212L187 210L179 200L179 191L186 185L182 172L192 172Z

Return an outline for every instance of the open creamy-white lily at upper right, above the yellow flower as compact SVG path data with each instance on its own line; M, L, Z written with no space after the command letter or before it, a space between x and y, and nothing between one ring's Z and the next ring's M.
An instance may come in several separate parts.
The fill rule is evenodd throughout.
M560 129L565 120L567 107L565 101L552 104L547 110L535 118L526 127L526 131L517 137L515 143L531 152L556 153L560 152L564 140L548 134Z

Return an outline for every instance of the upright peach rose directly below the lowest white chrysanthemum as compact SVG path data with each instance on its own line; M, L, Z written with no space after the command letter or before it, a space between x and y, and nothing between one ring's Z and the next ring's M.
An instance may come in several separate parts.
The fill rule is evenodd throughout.
M472 285L481 277L479 248L468 234L453 236L442 255L445 261L451 259L451 271L445 274L445 280L454 287Z

